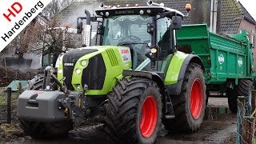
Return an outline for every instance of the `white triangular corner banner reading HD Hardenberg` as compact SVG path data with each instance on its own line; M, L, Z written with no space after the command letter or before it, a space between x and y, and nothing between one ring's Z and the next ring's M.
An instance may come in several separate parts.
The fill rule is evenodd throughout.
M0 51L2 51L51 0L0 1Z

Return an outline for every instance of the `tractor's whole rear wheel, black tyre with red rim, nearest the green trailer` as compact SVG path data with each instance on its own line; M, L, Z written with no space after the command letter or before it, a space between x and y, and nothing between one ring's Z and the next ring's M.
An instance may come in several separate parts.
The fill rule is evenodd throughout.
M190 63L182 83L182 93L173 95L174 119L166 119L166 130L193 132L198 130L206 109L206 86L201 66Z

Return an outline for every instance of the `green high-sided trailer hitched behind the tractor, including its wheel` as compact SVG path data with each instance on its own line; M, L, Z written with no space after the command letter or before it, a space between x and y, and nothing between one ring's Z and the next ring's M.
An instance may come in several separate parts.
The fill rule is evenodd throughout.
M252 48L246 30L226 36L209 32L206 25L182 26L178 30L178 50L202 59L206 95L226 93L234 113L237 112L238 96L250 97L250 90L254 88Z

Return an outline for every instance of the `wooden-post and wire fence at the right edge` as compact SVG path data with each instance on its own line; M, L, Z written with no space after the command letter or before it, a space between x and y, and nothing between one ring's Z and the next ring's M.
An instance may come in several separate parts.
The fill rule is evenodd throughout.
M255 116L256 90L251 90L250 96L238 97L237 112L237 144L256 144Z

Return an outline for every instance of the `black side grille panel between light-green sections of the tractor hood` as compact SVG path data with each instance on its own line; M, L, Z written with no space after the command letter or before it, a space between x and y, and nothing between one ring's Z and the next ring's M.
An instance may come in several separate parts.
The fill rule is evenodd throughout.
M85 84L89 90L102 90L106 76L106 66L102 54L89 59L88 66L82 71L82 86Z

